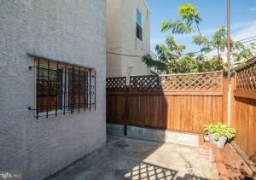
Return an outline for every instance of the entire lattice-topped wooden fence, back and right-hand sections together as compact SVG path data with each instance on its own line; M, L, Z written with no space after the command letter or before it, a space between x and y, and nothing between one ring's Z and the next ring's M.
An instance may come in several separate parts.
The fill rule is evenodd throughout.
M131 76L107 79L107 122L202 133L227 123L228 81L223 73ZM256 59L231 82L230 125L236 144L256 162Z

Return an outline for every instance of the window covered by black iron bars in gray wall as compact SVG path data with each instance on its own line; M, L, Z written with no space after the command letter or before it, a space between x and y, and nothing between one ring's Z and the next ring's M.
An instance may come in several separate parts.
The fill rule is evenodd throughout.
M96 71L35 58L36 99L35 117L75 113L96 108ZM32 67L30 67L32 69Z

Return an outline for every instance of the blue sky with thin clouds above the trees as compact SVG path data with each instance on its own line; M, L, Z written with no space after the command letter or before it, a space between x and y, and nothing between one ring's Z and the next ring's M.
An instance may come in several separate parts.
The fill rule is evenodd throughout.
M218 26L226 26L225 0L147 0L151 11L151 49L164 43L166 34L160 32L164 20L177 20L177 8L184 3L193 3L201 12L201 32L211 38ZM231 36L241 40L256 36L256 0L231 0ZM170 32L169 32L170 33ZM168 34L168 33L167 33ZM200 47L191 44L192 35L174 35L178 44L185 44L188 51L197 51ZM254 42L256 43L256 41Z

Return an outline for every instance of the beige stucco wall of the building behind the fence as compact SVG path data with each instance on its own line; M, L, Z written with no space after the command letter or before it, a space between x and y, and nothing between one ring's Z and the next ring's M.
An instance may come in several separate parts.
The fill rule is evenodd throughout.
M137 38L137 9L143 15L143 41ZM141 57L150 54L150 12L143 0L107 0L107 76L147 75Z

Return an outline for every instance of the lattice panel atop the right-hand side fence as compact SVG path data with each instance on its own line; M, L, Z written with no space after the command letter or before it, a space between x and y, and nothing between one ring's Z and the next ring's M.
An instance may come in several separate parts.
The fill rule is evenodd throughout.
M256 60L236 70L236 90L256 90Z

